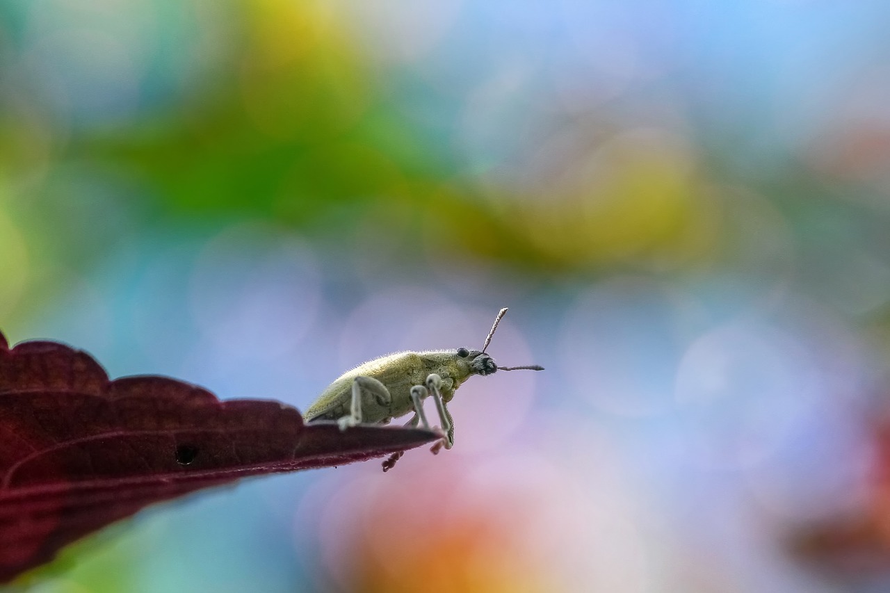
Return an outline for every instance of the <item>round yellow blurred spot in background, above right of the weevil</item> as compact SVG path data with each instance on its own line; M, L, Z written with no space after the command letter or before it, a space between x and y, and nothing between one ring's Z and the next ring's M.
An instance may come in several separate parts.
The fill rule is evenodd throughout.
M565 155L530 189L536 197L522 202L519 218L557 262L682 256L711 234L691 151L663 134L635 130Z

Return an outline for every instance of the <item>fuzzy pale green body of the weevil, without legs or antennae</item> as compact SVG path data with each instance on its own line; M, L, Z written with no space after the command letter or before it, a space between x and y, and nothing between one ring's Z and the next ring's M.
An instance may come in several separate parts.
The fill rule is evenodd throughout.
M454 392L467 378L473 375L467 359L461 358L454 350L431 350L427 352L400 352L381 356L373 361L360 364L346 371L325 389L303 414L306 422L312 420L336 420L350 413L352 402L352 382L356 377L372 377L389 390L391 401L381 404L371 395L361 400L363 423L386 424L414 411L411 401L411 387L424 385L430 373L441 377L442 400L450 402Z

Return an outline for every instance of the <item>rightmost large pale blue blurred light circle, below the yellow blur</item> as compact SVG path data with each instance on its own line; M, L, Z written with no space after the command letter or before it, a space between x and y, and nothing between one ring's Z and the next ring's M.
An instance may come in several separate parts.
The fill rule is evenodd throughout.
M692 459L747 467L769 458L821 397L818 379L805 345L764 322L733 322L703 334L676 374Z

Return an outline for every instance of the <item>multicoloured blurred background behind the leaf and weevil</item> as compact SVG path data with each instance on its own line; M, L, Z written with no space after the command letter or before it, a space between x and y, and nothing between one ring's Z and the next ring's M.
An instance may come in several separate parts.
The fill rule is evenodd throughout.
M490 346L452 451L39 591L890 589L884 2L0 4L0 328L305 409Z

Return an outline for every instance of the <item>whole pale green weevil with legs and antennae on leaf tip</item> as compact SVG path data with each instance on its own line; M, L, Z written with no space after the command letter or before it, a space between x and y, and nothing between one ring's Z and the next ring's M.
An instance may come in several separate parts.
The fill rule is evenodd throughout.
M419 423L429 429L423 402L432 395L439 411L442 438L430 451L438 453L442 447L450 449L454 444L454 421L446 404L466 379L473 375L485 377L498 370L544 370L538 365L498 367L485 353L505 313L506 307L498 312L481 350L400 352L346 371L312 403L303 419L306 422L336 420L340 430L346 430L359 424L389 424L392 418L413 411L414 416L405 426ZM386 459L384 472L391 469L401 455L400 451Z

